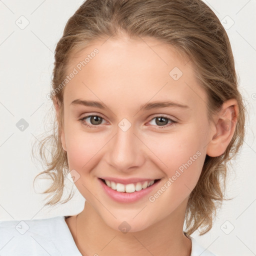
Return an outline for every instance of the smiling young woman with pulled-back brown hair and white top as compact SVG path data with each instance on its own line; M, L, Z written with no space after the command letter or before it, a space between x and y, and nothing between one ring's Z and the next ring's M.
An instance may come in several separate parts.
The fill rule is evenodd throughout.
M213 255L190 234L212 226L244 106L227 34L205 3L84 1L57 43L51 98L46 204L60 202L70 172L85 205L2 221L4 235L23 230L9 254Z

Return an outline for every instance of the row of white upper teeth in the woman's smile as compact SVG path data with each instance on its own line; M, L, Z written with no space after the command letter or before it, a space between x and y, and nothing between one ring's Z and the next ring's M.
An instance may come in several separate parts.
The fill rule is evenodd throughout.
M111 187L112 189L118 191L118 192L127 192L132 193L134 191L139 191L141 189L144 189L154 183L154 180L148 180L136 183L130 183L130 184L121 184L121 183L115 183L114 181L106 180L104 179L107 186Z

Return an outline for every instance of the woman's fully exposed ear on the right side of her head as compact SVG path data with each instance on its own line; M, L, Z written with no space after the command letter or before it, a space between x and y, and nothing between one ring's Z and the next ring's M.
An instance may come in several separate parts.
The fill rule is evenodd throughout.
M225 101L214 120L216 133L207 144L206 154L208 156L215 157L225 152L233 137L237 116L238 104L236 99L233 98Z

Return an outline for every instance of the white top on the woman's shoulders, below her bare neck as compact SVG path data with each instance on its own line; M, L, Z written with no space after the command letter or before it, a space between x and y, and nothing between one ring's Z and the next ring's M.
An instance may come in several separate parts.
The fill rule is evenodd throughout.
M194 238L191 256L216 256ZM64 216L0 221L0 255L82 256Z

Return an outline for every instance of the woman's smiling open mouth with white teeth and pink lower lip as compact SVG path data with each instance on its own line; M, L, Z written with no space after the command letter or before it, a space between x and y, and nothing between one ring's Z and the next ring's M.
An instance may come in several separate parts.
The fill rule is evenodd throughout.
M117 202L134 202L150 193L159 183L161 178L148 179L136 182L122 181L123 183L113 180L98 178L103 191Z

